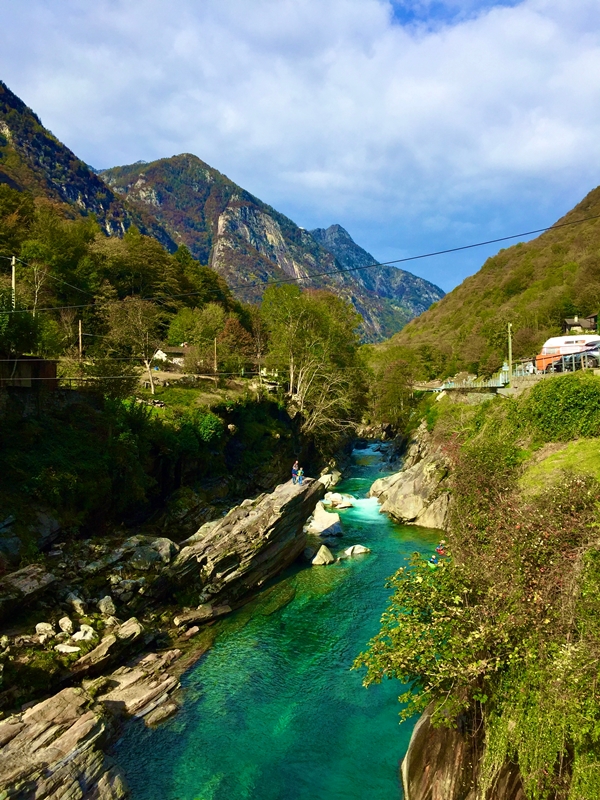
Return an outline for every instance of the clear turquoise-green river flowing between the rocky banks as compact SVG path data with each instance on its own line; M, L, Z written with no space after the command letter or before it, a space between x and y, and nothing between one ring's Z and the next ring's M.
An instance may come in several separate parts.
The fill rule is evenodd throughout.
M399 725L397 681L364 689L351 671L379 628L386 578L435 531L397 525L366 497L386 470L377 445L354 452L336 491L344 535L372 552L295 566L219 624L182 678L181 711L156 730L130 723L115 755L134 800L398 800L413 723Z

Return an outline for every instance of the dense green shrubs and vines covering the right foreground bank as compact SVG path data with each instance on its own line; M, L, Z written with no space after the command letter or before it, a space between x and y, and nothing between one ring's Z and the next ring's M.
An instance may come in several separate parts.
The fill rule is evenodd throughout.
M600 378L548 378L518 399L433 403L451 465L448 557L391 579L357 665L408 684L472 734L477 797L518 764L527 800L600 796Z

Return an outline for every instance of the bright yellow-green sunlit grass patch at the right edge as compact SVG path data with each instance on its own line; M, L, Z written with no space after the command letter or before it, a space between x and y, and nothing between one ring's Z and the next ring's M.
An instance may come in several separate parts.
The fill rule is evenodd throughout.
M520 478L527 494L536 494L561 478L562 471L592 475L600 480L600 441L579 439L528 467Z

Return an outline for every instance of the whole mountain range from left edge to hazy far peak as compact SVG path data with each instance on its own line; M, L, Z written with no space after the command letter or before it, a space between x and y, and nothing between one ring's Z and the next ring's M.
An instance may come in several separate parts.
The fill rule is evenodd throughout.
M109 236L135 225L170 252L184 244L240 300L258 301L267 281L300 278L301 286L333 291L362 314L365 341L391 336L442 295L391 268L348 272L357 259L374 259L342 228L313 235L196 156L97 172L1 82L0 183L59 204L69 216L94 214Z

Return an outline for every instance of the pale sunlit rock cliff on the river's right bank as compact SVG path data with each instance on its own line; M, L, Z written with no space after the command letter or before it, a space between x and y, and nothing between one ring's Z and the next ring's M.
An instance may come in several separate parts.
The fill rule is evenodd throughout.
M447 475L446 458L423 422L411 439L402 470L375 481L369 496L377 497L381 511L399 522L445 530L450 505Z

